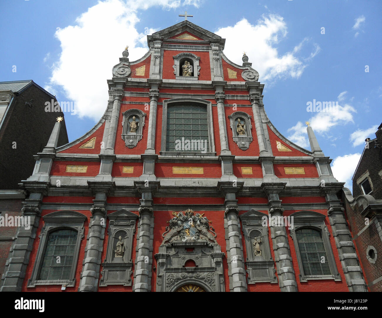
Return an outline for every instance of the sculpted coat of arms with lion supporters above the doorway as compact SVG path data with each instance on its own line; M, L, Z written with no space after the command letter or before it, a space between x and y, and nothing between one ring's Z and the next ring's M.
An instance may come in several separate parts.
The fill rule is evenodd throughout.
M215 229L203 214L196 213L191 209L181 212L173 212L174 216L166 226L166 231L162 234L163 242L161 246L169 246L173 242L197 242L207 241L209 245L217 245L215 239ZM211 234L211 231L213 234Z

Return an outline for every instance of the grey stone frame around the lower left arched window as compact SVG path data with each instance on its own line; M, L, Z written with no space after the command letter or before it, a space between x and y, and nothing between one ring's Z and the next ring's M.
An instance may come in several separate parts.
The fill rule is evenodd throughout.
M36 287L37 285L65 285L66 287L74 287L76 284L75 274L78 262L79 248L81 241L84 238L84 222L87 220L87 217L75 211L56 211L49 213L42 218L44 219L44 226L42 227L39 235L39 247L37 249L31 278L28 280L27 287ZM49 235L59 229L71 229L77 232L77 241L74 249L73 263L71 266L69 279L40 280L38 278Z

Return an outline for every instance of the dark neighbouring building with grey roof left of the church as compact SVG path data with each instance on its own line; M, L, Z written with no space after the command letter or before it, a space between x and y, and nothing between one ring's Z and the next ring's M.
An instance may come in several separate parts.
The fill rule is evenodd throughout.
M34 156L44 149L56 118L63 117L61 109L45 111L45 103L52 100L57 102L31 80L0 82L0 217L21 215L22 201L28 193L20 190L18 183L33 173ZM67 143L62 123L58 145ZM0 222L0 276L17 230Z

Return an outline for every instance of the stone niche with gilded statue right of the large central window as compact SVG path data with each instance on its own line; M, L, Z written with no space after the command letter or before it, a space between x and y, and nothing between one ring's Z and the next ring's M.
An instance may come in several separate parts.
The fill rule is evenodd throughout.
M243 111L235 111L228 115L228 118L230 119L233 141L241 150L247 150L253 140L251 116Z

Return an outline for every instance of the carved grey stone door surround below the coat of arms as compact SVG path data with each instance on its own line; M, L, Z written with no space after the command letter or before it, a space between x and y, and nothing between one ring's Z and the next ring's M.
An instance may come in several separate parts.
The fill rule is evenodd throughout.
M173 292L186 284L209 292L225 291L223 257L220 246L209 246L207 241L159 247L156 291Z

